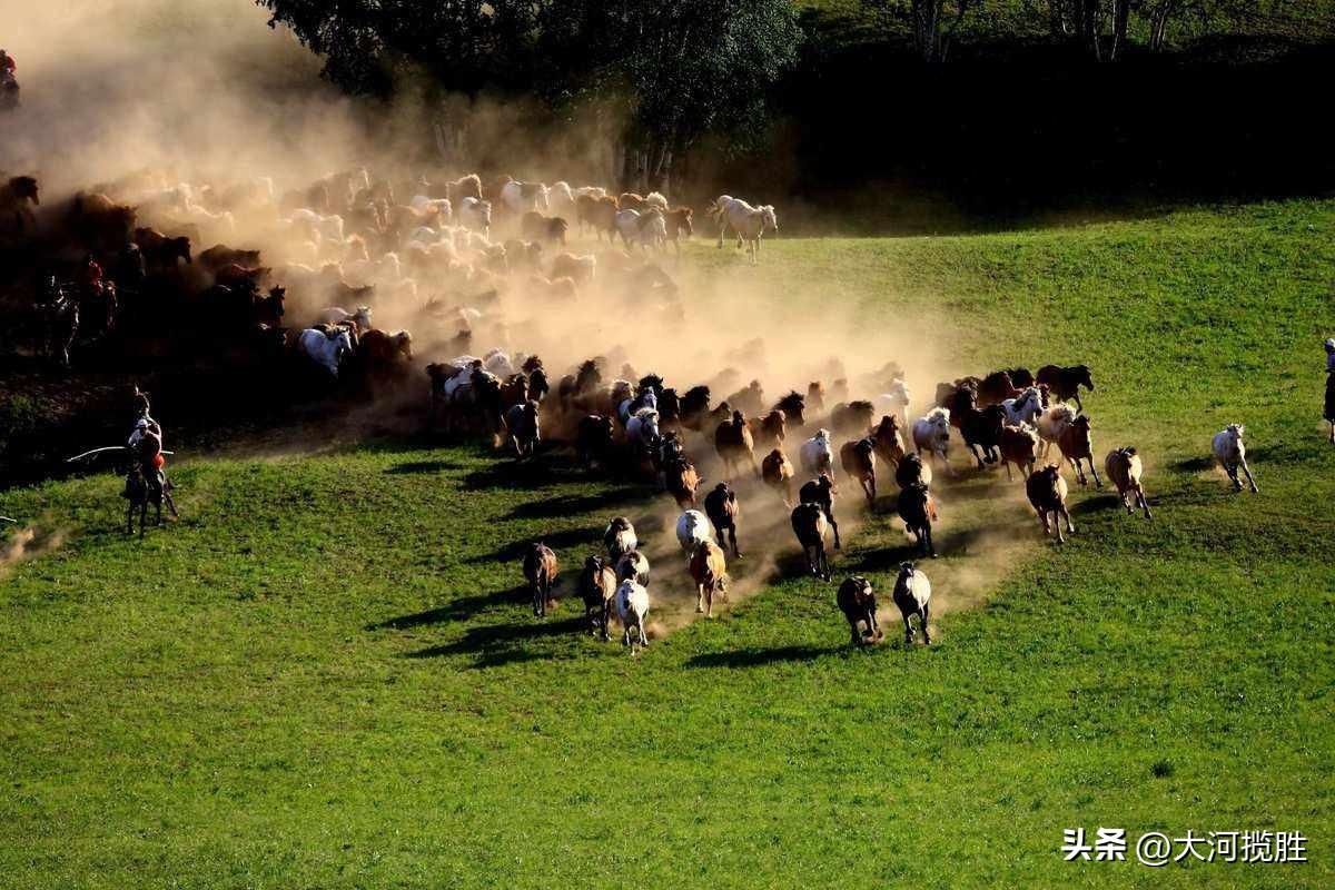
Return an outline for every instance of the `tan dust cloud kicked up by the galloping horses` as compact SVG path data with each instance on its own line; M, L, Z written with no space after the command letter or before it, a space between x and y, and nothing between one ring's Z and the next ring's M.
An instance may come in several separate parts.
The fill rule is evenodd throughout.
M474 171L483 172L493 201L498 172L615 193L606 172L613 155L606 120L550 128L523 100L453 97L447 113L467 116L469 143L445 145L425 125L421 92L411 84L392 103L339 95L319 79L319 60L284 29L266 27L267 13L250 0L0 0L0 21L23 84L23 105L0 139L0 168L39 177L43 224L57 227L61 203L92 191L134 205L140 226L188 234L196 254L214 244L259 250L264 284L288 290L284 324L300 330L330 304L355 310L364 303L375 327L411 332L415 374L427 362L502 350L541 356L555 386L598 356L606 380L653 372L680 391L708 383L714 404L736 403L733 394L754 382L765 410L818 380L826 410L810 408L805 428L790 428L785 444L796 466L797 447L826 424L834 403L870 400L878 419L889 412L880 394L902 375L913 394L909 416L918 416L930 407L936 382L984 371L948 367L936 354L933 343L949 331L944 318L917 312L893 324L877 320L869 336L873 322L856 303L832 296L837 288L814 282L776 294L741 263L701 263L693 250L645 254L605 243L581 231L573 205L551 208L569 219L569 243L535 252L511 247L522 235L517 215L498 213L490 238L457 231L449 243L413 247L320 231L291 215L320 183L371 192L374 183L392 184L386 193L394 197L383 203L392 211L418 191L443 197L445 183ZM716 230L704 208L694 209L696 240L712 239ZM784 208L778 212L782 220ZM351 230L354 219L339 227L344 221ZM423 227L431 228L425 220ZM593 282L575 292L553 280L551 258L563 252L595 258ZM196 276L192 287L211 283L203 271L190 275ZM425 375L413 387L425 400ZM701 498L722 480L706 428L708 435L686 440L706 478ZM836 436L836 450L852 438ZM959 439L955 451L959 462ZM866 514L857 484L840 476L837 514L852 540ZM733 482L744 500L746 555L729 595L736 604L792 571L797 547L778 498L758 482ZM881 490L894 494L885 466ZM951 486L940 492L941 534L976 534L967 564L937 582L937 614L975 603L1023 551L1012 536L972 527L983 520L968 518L973 504L952 506L952 492ZM881 510L889 502L882 496ZM694 619L694 590L674 535L678 515L662 506L633 518L641 538L653 542L658 635ZM7 564L31 555L33 540L31 530L15 536ZM37 550L49 548L52 539L43 540ZM836 571L840 562L832 552ZM893 568L882 578L893 579Z

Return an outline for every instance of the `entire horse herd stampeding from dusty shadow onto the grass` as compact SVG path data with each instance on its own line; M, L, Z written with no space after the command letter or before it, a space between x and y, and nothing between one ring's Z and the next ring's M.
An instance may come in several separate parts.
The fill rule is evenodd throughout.
M507 304L534 315L570 307L595 278L601 287L623 288L641 304L680 314L678 288L653 252L693 232L690 208L672 207L659 193L613 197L597 187L549 187L510 177L487 192L491 200L483 197L477 175L391 183L364 169L283 195L264 179L214 187L166 184L150 176L79 193L43 227L33 213L36 180L12 177L0 193L7 227L0 236L11 246L36 246L33 255L45 260L77 258L80 280L72 286L77 296L57 284L48 304L36 299L48 316L64 300L75 306L77 326L77 306L92 295L115 307L117 291L132 299L166 292L170 299L158 300L154 315L167 327L179 327L180 307L190 306L211 324L224 320L235 326L231 330L302 356L331 380L346 375L348 356L362 358L363 367L410 367L414 338L406 330L391 334L371 326L378 300L400 316L406 300L415 307L411 318L435 330L441 322L454 324L425 350L454 356L425 367L434 428L489 436L530 462L539 459L543 442L563 443L589 470L653 479L682 510L677 539L697 592L697 611L706 615L713 614L716 596L728 596L729 555L741 558L738 526L746 495L741 488L748 478L782 502L808 572L825 582L832 579L826 540L833 538L834 550L842 547L834 508L837 470L874 508L884 491L881 475L893 468L894 510L920 556L937 555L933 471L957 475L949 462L956 436L979 470L1004 466L1008 479L1019 472L1044 534L1059 543L1064 542L1063 524L1068 534L1075 531L1061 464L1071 464L1080 486L1091 476L1095 486L1103 484L1080 392L1095 388L1087 366L1049 364L1036 374L1016 367L941 383L932 403L910 420L909 387L893 362L860 384L868 388L868 399L852 399L848 382L840 379L829 391L813 382L805 395L793 390L768 400L761 383L752 380L716 404L709 384L668 386L659 375L635 375L629 362L610 380L602 356L553 380L537 355L499 347L474 355L475 332L501 343L514 339L506 334ZM136 215L144 212L190 234L164 235L136 226ZM754 207L728 195L712 201L706 216L718 226L720 247L732 232L752 262L762 236L777 231L772 205ZM619 238L626 250L561 251L546 258L545 247L565 247L569 219L581 231L593 230L598 240L606 238L609 246ZM260 266L260 251L223 243L194 252L192 244L206 232L235 236L238 221L247 238L272 243L266 256L272 254L278 262ZM517 238L493 240L493 227ZM426 302L419 294L423 287L431 288ZM282 327L290 290L306 319L295 330ZM115 316L112 308L108 328ZM64 343L65 362L69 342ZM1215 436L1214 451L1235 486L1242 487L1240 470L1255 491L1242 436L1240 426L1230 426ZM1047 460L1052 447L1060 452L1056 463ZM696 456L705 450L717 455L724 480L700 492ZM1128 514L1140 508L1149 519L1136 450L1115 448L1103 464ZM647 556L626 518L609 523L605 543L606 555L590 555L579 574L589 628L607 638L615 611L623 642L634 648L647 642ZM555 554L534 542L523 558L523 575L538 616L550 606L558 572ZM929 642L930 582L921 568L901 564L893 600L906 638L913 638L909 619L916 615ZM854 640L880 636L868 579L846 579L837 603Z

